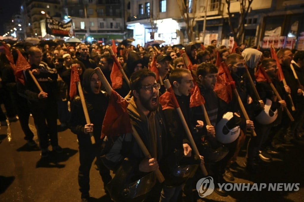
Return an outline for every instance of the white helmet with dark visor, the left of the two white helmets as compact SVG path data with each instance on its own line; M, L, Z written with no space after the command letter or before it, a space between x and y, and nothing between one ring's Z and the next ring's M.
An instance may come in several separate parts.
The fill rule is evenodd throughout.
M216 124L216 139L221 143L231 143L240 135L240 126L236 125L236 118L233 113L228 111L223 118Z

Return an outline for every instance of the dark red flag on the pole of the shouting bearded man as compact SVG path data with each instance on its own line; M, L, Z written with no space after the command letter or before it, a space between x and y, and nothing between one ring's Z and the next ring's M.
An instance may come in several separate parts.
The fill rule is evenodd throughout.
M112 89L109 105L102 122L100 139L133 132L127 111L129 103Z

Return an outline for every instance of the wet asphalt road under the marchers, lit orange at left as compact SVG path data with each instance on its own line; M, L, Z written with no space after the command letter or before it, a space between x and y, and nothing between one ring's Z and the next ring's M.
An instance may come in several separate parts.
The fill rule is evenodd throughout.
M33 118L30 127L35 133ZM11 135L9 135L9 130ZM79 154L76 135L70 130L58 133L60 154L51 152L46 159L40 159L40 150L26 145L19 122L0 128L0 201L1 202L74 202L80 200L78 191ZM228 197L213 192L198 201L304 201L304 159L303 145L288 146L286 152L272 155L274 161L265 163L260 173L233 173L236 183L300 183L299 191L232 191ZM51 150L51 146L49 147ZM245 150L240 152L238 163L243 166ZM107 202L102 180L94 166L90 172L91 199L93 202ZM194 194L197 194L195 191Z

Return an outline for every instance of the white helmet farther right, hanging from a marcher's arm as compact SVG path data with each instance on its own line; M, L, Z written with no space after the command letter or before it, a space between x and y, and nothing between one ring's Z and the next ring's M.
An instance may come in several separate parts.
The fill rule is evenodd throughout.
M272 101L269 99L266 99L266 104L265 104L264 110L261 111L261 113L255 117L257 122L259 122L260 124L263 124L263 125L271 124L278 117L278 110L276 109L275 111L272 111L270 109L271 104L272 104Z

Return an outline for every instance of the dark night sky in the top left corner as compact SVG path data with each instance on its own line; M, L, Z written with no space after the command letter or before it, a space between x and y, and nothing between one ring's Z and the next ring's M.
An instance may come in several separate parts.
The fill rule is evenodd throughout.
M4 30L4 23L9 22L13 15L20 12L22 0L0 0L0 35L2 36L7 30Z

